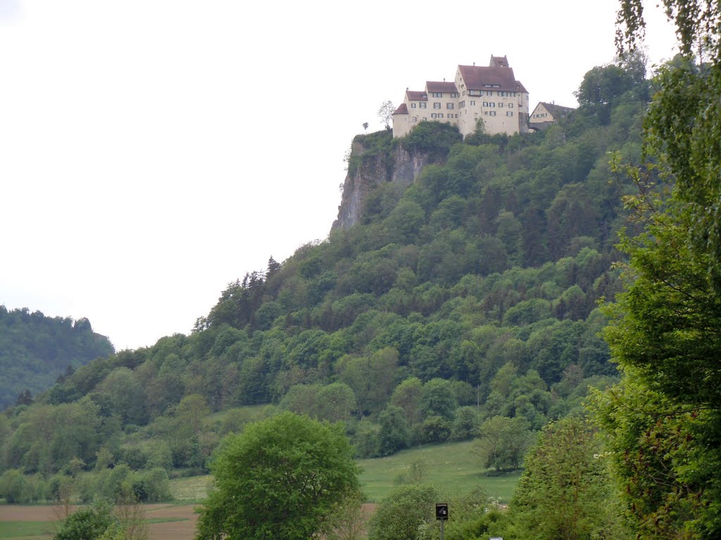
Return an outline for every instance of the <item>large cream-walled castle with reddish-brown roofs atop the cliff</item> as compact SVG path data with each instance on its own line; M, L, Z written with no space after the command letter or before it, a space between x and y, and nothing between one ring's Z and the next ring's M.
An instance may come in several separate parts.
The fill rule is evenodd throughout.
M458 66L455 82L427 81L425 91L406 89L393 113L393 136L404 137L418 122L456 125L461 135L528 132L528 91L516 81L505 56L491 56L488 66Z

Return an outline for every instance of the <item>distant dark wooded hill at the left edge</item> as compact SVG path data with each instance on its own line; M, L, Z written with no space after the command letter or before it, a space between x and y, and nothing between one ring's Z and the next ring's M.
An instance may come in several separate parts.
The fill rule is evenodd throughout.
M87 319L50 318L0 305L0 409L19 398L30 402L58 377L112 353L110 341L94 333Z

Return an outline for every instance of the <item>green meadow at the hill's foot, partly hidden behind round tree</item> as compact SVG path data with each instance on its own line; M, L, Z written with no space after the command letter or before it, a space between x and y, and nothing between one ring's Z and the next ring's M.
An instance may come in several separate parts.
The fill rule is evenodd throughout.
M468 493L481 487L487 495L508 503L521 473L486 476L479 467L478 456L471 451L471 441L433 444L404 450L392 456L361 459L361 484L368 502L378 502L410 472L411 464L423 463L424 479L433 482L449 495ZM177 478L170 481L175 500L181 503L200 502L210 485L210 476Z

